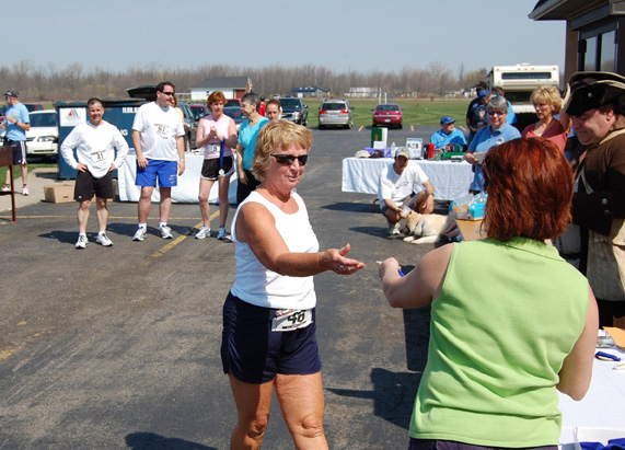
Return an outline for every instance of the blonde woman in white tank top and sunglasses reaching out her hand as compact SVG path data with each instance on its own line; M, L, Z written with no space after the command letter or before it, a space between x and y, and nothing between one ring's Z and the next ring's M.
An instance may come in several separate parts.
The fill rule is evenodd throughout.
M232 220L234 286L223 307L221 357L239 413L231 448L257 448L274 388L296 448L327 449L316 348L313 275L351 275L364 264L343 249L319 252L302 198L312 135L288 120L258 134L252 172L262 182Z

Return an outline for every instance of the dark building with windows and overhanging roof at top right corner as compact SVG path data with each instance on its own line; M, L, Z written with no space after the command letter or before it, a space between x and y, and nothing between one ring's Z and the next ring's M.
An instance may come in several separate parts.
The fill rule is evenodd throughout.
M540 0L529 15L566 21L565 80L577 71L625 76L625 1Z

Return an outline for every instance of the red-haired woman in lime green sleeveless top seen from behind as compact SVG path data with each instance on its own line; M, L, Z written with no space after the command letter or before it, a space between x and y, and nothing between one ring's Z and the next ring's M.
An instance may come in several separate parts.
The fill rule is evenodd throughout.
M494 147L483 169L487 239L441 246L403 278L394 258L380 266L392 307L431 304L409 448L556 449L556 390L583 397L598 330L588 280L545 242L567 226L572 174L543 138Z

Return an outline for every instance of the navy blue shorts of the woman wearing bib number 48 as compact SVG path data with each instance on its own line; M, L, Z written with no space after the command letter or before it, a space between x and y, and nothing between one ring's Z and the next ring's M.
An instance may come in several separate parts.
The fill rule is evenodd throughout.
M221 364L244 383L266 383L280 374L321 371L315 337L315 310L304 328L271 332L276 309L250 304L231 292L223 304Z

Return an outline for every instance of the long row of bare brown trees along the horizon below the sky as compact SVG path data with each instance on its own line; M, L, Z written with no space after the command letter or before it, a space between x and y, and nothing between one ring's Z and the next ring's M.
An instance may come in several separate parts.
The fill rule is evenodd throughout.
M189 92L207 78L248 77L253 89L259 95L288 95L293 88L319 86L329 90L331 95L344 95L350 88L373 88L390 95L410 96L442 95L459 88L468 89L486 70L465 72L464 65L458 77L440 62L430 62L426 69L404 67L402 70L368 72L348 70L336 72L323 66L304 65L283 67L233 67L228 65L201 65L196 68L167 68L150 62L132 66L123 72L95 67L86 70L82 64L73 62L63 68L55 64L36 66L31 60L19 61L11 67L0 66L0 79L10 88L19 89L22 97L36 101L84 101L90 96L126 99L131 86L157 84L169 80L175 83L177 92Z

